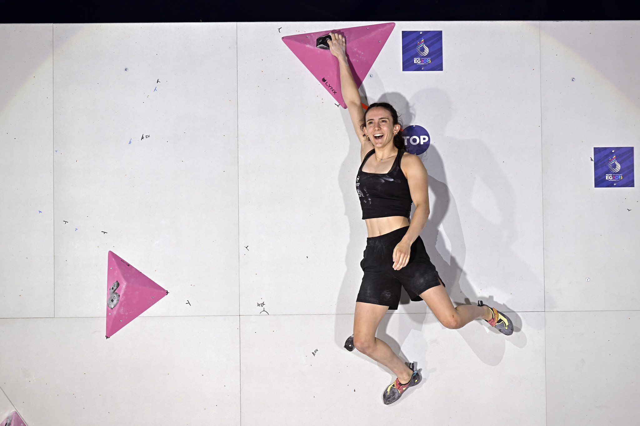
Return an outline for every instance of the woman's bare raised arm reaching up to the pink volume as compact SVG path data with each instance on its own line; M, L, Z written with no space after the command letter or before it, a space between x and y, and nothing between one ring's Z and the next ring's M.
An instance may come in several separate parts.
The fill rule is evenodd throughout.
M353 130L358 135L360 141L360 160L364 158L365 154L373 149L373 144L369 141L364 132L364 110L362 109L362 100L360 100L360 92L356 82L351 75L351 69L349 68L349 62L346 54L346 39L344 36L336 33L329 33L331 40L328 40L329 48L333 56L338 58L340 63L340 87L342 87L342 99L346 103L349 110L349 116L351 116L351 123L353 123Z

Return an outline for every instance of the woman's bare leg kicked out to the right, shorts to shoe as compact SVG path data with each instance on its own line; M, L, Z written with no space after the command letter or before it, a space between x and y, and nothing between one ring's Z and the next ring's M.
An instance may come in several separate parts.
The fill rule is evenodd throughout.
M442 281L440 285L422 292L420 297L427 302L431 312L446 328L461 328L474 319L490 320L493 318L491 309L486 306L460 305L454 308Z

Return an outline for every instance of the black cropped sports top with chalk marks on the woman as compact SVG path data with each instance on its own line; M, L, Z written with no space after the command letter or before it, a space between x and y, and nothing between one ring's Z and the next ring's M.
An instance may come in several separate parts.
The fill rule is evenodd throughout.
M362 218L404 216L411 214L411 192L409 182L400 169L400 160L404 150L398 149L398 154L391 170L388 173L367 173L362 171L362 166L375 152L371 149L365 155L358 177L356 178L356 191L362 206Z

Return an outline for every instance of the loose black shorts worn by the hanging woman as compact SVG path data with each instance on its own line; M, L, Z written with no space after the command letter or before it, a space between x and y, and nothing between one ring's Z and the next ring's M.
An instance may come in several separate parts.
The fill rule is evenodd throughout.
M420 301L420 293L440 284L438 271L431 263L420 236L411 245L411 255L406 266L399 271L394 270L394 248L407 229L408 226L367 238L364 259L360 262L364 276L356 301L397 309L401 287L404 287L411 300Z

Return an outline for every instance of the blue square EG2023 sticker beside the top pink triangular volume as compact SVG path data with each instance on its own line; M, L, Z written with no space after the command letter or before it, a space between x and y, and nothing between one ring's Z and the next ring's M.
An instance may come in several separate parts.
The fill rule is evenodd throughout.
M442 71L442 31L403 31L402 70Z

